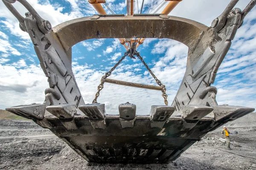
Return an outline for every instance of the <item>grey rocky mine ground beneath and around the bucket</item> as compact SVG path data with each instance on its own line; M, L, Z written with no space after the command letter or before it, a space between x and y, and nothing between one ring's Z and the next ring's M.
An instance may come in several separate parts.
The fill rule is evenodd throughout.
M88 163L49 130L32 121L0 119L0 169L3 170L256 170L256 124L228 128L233 150L221 129L204 136L172 164ZM255 127L253 126L255 125ZM229 153L228 153L229 152Z

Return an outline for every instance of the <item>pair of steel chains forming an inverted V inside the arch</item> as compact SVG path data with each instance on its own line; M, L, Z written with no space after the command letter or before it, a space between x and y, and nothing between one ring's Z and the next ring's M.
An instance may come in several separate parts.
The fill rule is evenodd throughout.
M156 80L157 84L163 88L163 91L162 91L162 96L164 98L164 103L166 105L168 105L168 101L167 101L167 94L166 94L166 87L165 85L162 84L162 82L157 79L157 77L154 75L154 73L151 71L151 69L148 67L148 65L145 63L145 61L143 60L143 58L140 56L140 53L137 52L137 51L134 51L133 54L131 54L131 51L128 50L125 52L124 56L113 66L113 68L111 68L110 71L106 72L104 76L102 76L102 79L101 79L101 83L99 84L98 86L98 91L97 93L95 94L95 98L93 99L93 103L97 103L97 98L99 97L99 93L100 91L104 88L104 82L105 82L105 79L107 77L109 77L112 73L112 71L115 70L115 68L122 62L123 59L125 59L126 56L129 56L131 58L135 58L134 55L136 55L140 60L141 62L145 65L145 67L147 68L148 72L151 74L151 76Z

